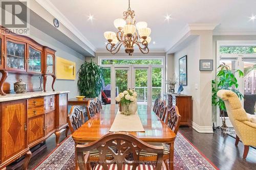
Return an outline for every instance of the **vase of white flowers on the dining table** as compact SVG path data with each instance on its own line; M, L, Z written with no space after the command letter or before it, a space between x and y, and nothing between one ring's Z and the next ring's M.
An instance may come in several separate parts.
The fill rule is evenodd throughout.
M137 111L137 92L134 89L124 90L120 92L116 97L116 101L119 102L119 111L121 114L130 115L134 114ZM136 106L131 103L136 102ZM133 107L133 109L132 109ZM134 112L134 107L136 111Z

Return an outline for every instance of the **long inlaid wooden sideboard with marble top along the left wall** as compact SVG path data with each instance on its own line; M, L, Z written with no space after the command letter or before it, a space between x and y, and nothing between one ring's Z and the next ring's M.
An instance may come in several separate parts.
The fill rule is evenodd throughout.
M30 149L60 130L68 130L68 92L27 92L0 96L0 169L25 156L24 169L31 158Z

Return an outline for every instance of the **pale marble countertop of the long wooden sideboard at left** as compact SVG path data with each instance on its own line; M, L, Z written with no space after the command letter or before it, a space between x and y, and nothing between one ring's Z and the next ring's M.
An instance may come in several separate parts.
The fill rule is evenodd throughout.
M53 95L53 94L62 94L62 93L69 93L69 91L37 91L37 92L26 92L22 94L6 94L0 96L0 102L7 102L7 101L14 101L14 100L20 100L20 99L29 99L29 98L35 98L39 96L45 96L45 95Z

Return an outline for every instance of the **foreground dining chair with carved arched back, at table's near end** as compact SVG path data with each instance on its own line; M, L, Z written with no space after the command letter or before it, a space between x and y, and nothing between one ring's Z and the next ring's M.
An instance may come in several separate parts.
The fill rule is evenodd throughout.
M113 150L115 148L115 150ZM76 145L76 156L80 170L92 169L90 163L90 150L97 149L100 152L99 163L94 165L93 169L166 169L163 163L163 147L157 147L143 142L132 134L126 132L112 132L104 135L99 140ZM141 151L151 152L157 155L157 161L154 164L141 164L139 153ZM111 153L113 159L106 158L106 153ZM130 157L132 159L127 159Z

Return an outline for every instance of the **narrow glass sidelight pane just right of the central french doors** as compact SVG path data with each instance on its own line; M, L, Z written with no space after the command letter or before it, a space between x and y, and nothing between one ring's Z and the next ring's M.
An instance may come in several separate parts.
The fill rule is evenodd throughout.
M152 68L152 102L162 93L162 68Z

